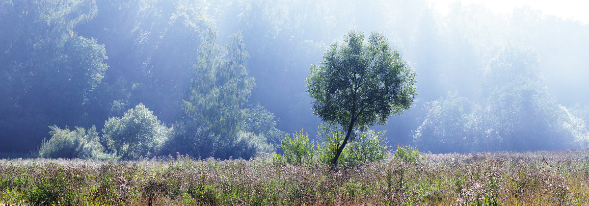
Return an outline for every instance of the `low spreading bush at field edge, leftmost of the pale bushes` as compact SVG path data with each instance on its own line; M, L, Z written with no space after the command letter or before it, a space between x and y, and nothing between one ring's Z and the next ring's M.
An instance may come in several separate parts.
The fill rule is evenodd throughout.
M104 147L100 144L100 137L96 127L86 130L77 127L73 131L68 128L60 129L52 126L49 141L43 141L39 148L42 158L81 158L104 159L110 156L104 154Z

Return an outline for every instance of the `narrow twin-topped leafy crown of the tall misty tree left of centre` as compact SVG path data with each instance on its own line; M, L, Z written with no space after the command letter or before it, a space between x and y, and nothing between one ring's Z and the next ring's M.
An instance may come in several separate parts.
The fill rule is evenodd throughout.
M241 107L256 84L247 76L244 61L248 56L241 34L231 36L231 43L224 47L214 44L215 39L203 39L194 64L198 75L191 80L190 101L184 101L183 109L213 134L230 141L239 131Z

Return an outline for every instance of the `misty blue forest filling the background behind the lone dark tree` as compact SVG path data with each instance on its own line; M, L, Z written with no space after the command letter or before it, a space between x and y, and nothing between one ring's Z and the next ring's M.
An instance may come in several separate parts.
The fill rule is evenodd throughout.
M326 145L306 79L352 30L382 35L415 72L410 107L364 129L386 147L588 147L589 25L529 7L1 0L0 153L249 160L289 134Z

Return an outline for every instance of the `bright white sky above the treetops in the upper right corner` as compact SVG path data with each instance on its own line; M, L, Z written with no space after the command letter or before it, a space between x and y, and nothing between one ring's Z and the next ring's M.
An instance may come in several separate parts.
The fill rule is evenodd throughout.
M456 0L429 0L429 4L442 12L447 14L448 5L456 2ZM482 4L491 9L491 11L507 14L512 9L522 6L530 6L532 9L540 9L545 15L559 16L563 19L573 19L589 24L589 1L579 0L560 0L560 1L546 1L546 0L462 0L462 4Z

